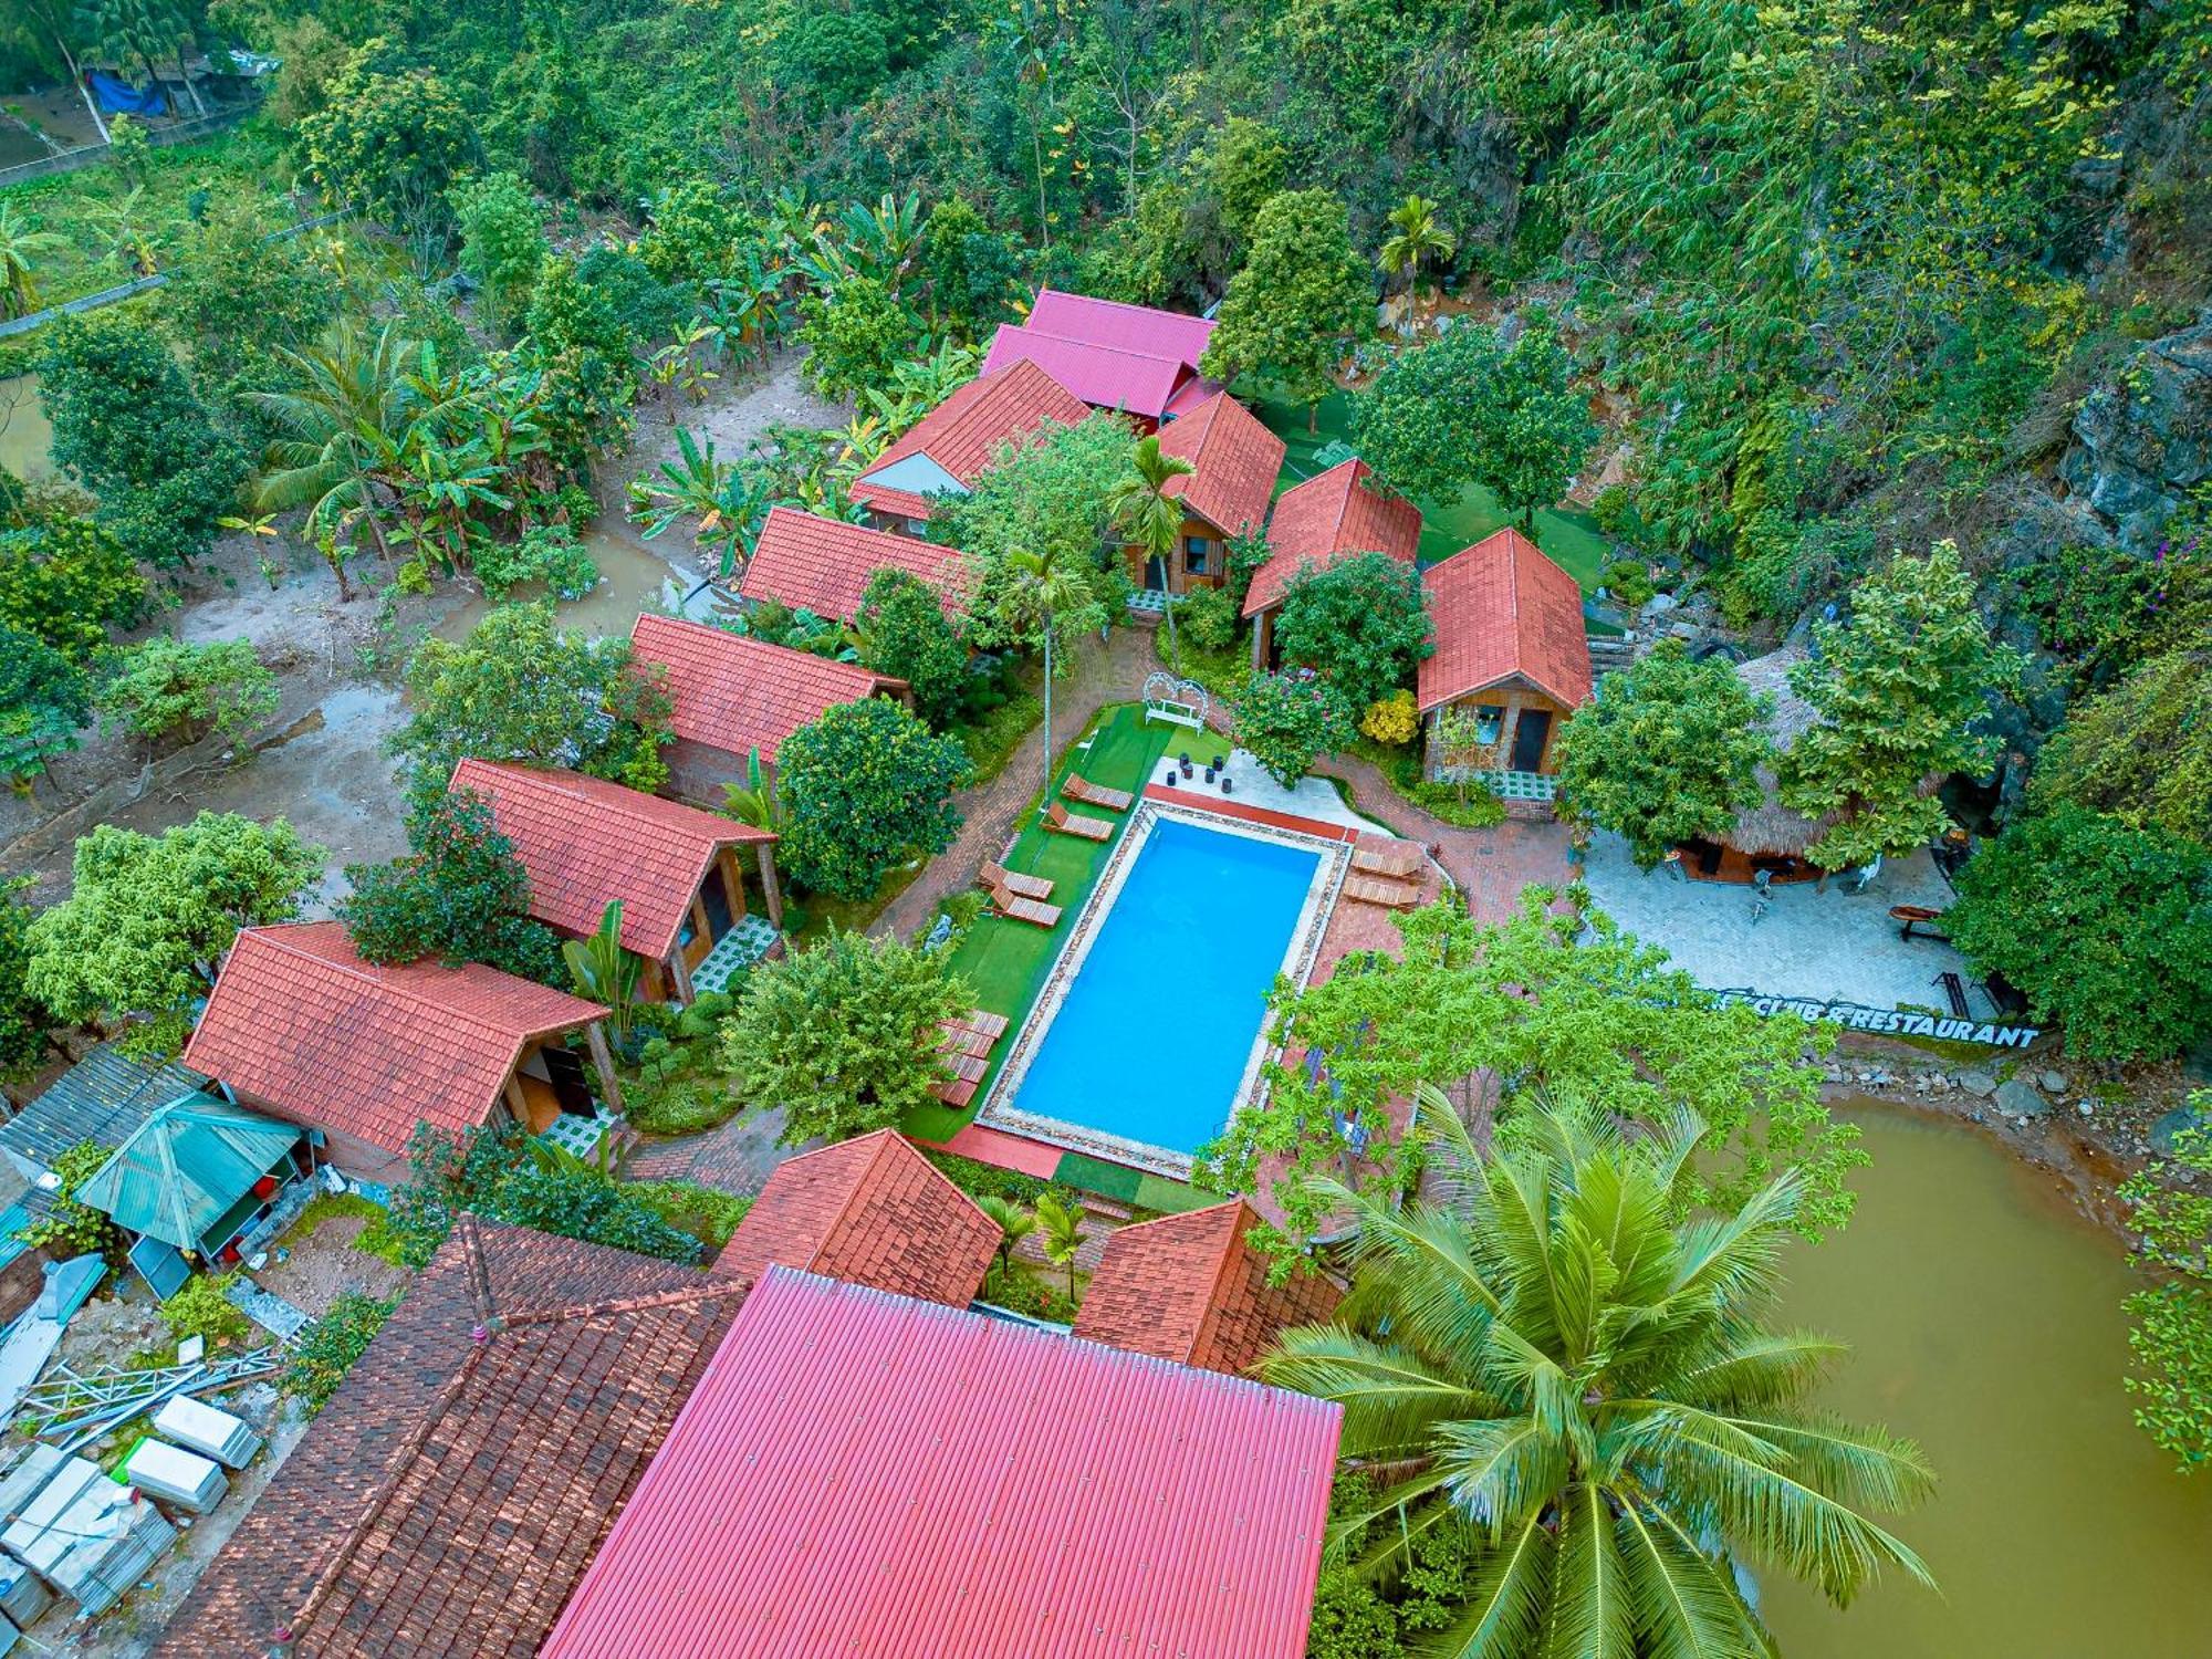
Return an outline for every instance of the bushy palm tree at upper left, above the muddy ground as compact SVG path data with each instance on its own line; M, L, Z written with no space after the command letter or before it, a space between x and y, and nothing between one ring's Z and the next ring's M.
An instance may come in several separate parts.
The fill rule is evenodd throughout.
M378 489L396 498L407 480L416 414L407 376L416 356L398 321L374 338L341 327L312 352L276 347L292 385L246 396L290 436L268 447L254 511L305 507L310 538L367 524L389 564Z

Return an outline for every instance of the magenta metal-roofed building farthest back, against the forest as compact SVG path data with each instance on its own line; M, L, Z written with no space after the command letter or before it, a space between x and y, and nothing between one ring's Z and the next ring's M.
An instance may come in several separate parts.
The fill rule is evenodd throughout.
M1004 323L991 336L982 372L1035 363L1093 409L1115 409L1152 431L1221 392L1199 374L1212 332L1203 316L1046 288L1026 323Z

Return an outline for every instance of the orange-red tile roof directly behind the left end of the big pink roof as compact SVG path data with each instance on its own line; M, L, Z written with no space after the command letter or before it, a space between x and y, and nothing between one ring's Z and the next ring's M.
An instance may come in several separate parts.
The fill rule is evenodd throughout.
M1000 1237L967 1192L883 1128L779 1164L714 1270L754 1279L781 1263L967 1307Z

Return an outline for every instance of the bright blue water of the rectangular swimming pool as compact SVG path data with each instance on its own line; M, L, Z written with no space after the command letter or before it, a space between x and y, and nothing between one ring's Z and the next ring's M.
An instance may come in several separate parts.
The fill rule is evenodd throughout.
M1161 818L1013 1108L1197 1152L1228 1121L1318 852Z

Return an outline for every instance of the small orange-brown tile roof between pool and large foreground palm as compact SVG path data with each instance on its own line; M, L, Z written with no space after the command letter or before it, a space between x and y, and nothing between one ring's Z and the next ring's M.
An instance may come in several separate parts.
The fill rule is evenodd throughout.
M1279 1329L1316 1325L1340 1298L1318 1274L1270 1285L1267 1259L1245 1243L1256 1225L1252 1206L1230 1199L1117 1230L1075 1334L1177 1365L1250 1371Z

